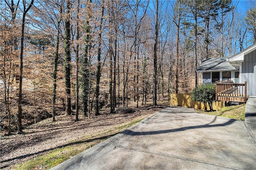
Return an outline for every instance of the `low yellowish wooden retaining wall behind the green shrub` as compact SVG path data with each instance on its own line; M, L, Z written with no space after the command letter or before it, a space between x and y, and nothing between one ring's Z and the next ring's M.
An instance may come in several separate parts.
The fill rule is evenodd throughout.
M189 107L194 109L202 109L204 110L204 103L199 101L193 101L191 93L177 93L171 94L171 106L182 106ZM212 109L216 110L216 101L212 103ZM221 102L218 102L218 110L221 109ZM207 103L207 110L210 110L210 107Z

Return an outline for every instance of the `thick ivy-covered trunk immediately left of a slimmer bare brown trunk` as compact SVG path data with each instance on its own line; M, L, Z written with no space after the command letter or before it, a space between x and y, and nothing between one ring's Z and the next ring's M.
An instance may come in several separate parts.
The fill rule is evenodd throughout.
M66 0L66 16L65 16L65 40L64 40L64 67L65 67L65 86L66 86L66 114L71 115L71 35L70 35L70 9L71 2Z

